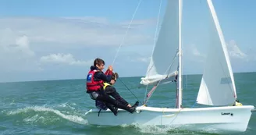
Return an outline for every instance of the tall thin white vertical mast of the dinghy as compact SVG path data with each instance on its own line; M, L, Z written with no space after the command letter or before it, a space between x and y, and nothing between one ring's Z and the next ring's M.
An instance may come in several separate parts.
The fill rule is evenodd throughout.
M177 108L182 108L182 49L181 49L182 0L179 0L179 88Z

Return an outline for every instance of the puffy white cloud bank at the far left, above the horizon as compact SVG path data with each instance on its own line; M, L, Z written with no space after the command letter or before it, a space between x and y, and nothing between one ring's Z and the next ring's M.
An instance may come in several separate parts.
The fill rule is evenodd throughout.
M6 28L0 34L0 70L1 72L34 72L41 71L40 63L34 58L35 53L30 48L30 39L26 35L15 35Z

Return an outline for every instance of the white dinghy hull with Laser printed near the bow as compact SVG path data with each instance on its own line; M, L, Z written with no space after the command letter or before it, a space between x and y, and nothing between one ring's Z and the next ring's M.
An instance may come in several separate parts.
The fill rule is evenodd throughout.
M91 109L87 120L92 125L168 126L183 130L211 130L218 133L244 132L251 118L252 105L211 108L153 108L140 106L137 112L119 110L113 115L109 110Z

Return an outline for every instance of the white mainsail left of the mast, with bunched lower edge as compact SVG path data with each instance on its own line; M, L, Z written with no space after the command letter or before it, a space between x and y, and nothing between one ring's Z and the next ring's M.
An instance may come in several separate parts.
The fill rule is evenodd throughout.
M158 41L155 44L146 76L141 78L140 84L148 85L175 76L179 60L178 50L179 0L172 0L167 3Z

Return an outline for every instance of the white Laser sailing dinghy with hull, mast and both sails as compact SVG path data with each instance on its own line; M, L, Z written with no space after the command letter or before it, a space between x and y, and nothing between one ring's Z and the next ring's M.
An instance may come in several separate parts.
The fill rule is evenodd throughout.
M139 124L176 127L191 131L209 128L224 133L247 130L254 106L233 105L237 104L233 70L212 0L207 2L214 29L207 44L211 51L204 65L197 104L210 107L183 108L182 106L182 0L169 0L148 71L146 76L141 78L140 84L155 85L150 92L152 93L159 83L165 83L170 78L178 76L176 108L141 105L133 114L119 109L118 115L113 115L109 109L101 111L98 115L99 109L94 108L86 113L89 124L105 126Z

